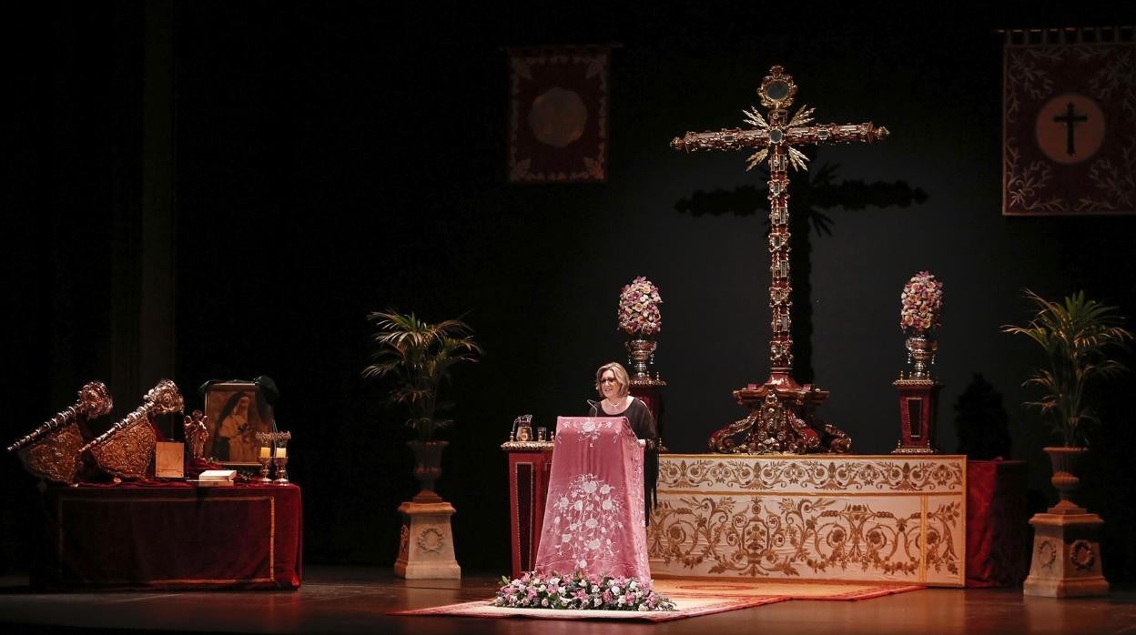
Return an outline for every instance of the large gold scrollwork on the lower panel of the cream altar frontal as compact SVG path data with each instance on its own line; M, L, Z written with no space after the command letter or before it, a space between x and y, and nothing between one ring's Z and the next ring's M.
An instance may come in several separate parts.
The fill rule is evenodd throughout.
M648 552L665 565L742 577L801 576L803 569L859 569L916 577L926 567L958 575L961 503L896 516L828 498L688 496L663 500L648 528Z

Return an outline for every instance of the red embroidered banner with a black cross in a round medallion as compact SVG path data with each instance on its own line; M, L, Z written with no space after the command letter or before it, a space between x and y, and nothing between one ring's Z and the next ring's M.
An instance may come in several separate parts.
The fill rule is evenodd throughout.
M1136 211L1136 44L1027 35L1003 51L1002 214Z

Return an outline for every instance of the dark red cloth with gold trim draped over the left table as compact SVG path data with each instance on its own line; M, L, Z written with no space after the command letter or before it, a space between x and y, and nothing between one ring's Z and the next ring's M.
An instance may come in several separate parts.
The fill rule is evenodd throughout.
M49 487L40 588L298 588L295 485Z

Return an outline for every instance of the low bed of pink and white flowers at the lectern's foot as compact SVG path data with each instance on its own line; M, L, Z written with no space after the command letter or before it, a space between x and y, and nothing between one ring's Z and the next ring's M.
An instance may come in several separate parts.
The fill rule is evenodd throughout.
M674 611L675 603L636 578L529 571L518 579L501 577L495 607L561 610Z

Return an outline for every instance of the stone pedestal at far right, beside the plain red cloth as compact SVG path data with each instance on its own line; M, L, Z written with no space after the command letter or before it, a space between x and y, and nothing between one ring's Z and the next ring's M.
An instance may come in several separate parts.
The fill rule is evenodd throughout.
M1071 598L1106 595L1109 580L1101 574L1097 527L1104 520L1074 506L1058 504L1029 519L1034 526L1034 552L1026 595Z

